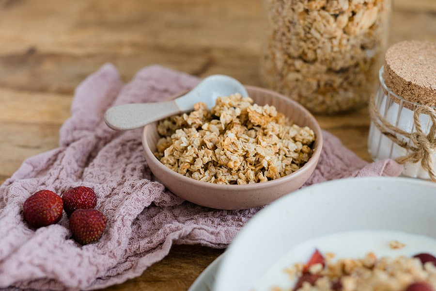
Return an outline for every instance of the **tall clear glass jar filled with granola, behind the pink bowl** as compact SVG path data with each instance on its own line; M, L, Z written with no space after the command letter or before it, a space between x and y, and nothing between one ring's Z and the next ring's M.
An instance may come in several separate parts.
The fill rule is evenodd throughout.
M367 104L387 45L391 0L265 0L265 85L313 113Z

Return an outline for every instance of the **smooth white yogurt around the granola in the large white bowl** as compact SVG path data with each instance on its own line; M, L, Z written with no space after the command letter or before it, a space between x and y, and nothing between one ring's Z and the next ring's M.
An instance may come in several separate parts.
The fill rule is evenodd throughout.
M393 249L390 242L405 244ZM322 254L334 253L334 259L364 258L369 252L380 257L412 257L419 253L436 254L436 239L428 236L399 231L356 230L318 237L294 246L280 260L274 263L255 282L253 291L271 291L273 287L292 289L296 278L291 279L285 272L295 263L306 263L315 249Z

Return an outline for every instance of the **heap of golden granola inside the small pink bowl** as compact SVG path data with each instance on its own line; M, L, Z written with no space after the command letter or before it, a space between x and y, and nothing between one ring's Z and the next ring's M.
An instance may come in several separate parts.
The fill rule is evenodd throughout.
M218 97L210 111L158 122L156 157L171 170L218 184L265 182L291 174L311 157L313 130L293 124L274 106L250 97Z

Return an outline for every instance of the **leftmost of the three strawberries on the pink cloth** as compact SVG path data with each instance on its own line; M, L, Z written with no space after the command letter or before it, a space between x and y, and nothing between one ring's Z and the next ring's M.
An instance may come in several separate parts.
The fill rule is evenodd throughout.
M62 198L49 190L40 190L26 199L24 220L33 227L57 223L62 217Z

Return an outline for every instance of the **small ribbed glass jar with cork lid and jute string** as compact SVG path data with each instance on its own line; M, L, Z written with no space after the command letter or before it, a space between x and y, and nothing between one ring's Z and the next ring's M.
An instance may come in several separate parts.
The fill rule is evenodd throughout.
M436 43L390 47L369 109L373 160L394 159L403 176L436 181Z

